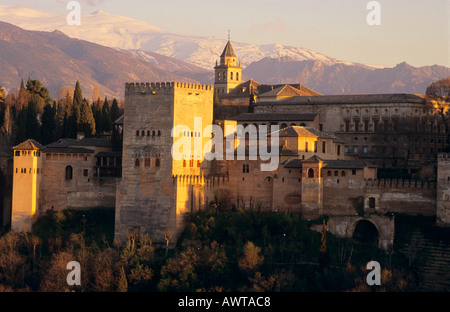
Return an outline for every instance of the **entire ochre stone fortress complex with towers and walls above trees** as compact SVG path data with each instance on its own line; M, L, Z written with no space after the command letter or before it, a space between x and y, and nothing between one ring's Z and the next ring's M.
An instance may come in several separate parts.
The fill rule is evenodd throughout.
M108 146L76 141L14 148L13 229L29 230L35 214L48 209L115 206L117 239L138 231L156 244L174 235L173 244L186 216L216 200L229 209L328 216L328 230L338 236L352 236L360 222L370 222L384 249L393 245L393 213L436 215L439 225L450 223L450 158L441 154L433 162L445 142L422 97L320 96L301 85L267 88L264 97L258 84L263 100L252 102L247 88L256 83L241 82L229 42L215 69L216 95L212 86L127 83L120 157ZM223 94L226 104L241 93L252 109L213 128L215 96ZM429 129L400 131L411 120ZM257 136L240 137L238 127L253 127ZM266 136L257 131L263 127ZM212 150L211 140L217 143ZM267 154L259 149L262 142L269 145ZM206 158L220 147L222 159ZM384 167L405 160L421 166L420 177L378 178ZM272 161L276 166L263 170ZM119 169L121 177L110 176Z

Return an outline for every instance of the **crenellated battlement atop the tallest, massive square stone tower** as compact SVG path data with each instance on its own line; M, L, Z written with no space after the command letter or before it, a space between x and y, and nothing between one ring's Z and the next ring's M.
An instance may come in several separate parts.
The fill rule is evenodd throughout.
M186 89L192 92L199 91L212 91L213 87L202 84L195 83L185 83L185 82L152 82L152 83L143 83L143 82L131 82L125 83L125 95L132 94L170 94L173 93L175 89Z

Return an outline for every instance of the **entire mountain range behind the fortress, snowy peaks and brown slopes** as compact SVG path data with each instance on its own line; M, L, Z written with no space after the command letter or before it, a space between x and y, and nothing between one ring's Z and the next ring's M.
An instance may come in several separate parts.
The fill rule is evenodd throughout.
M45 23L42 23L45 20ZM86 92L123 98L132 81L213 84L226 40L171 33L128 17L96 11L69 26L65 14L0 6L0 85L40 79L52 94L79 80ZM20 27L20 28L19 28ZM322 94L423 93L450 75L444 66L376 66L338 60L300 47L233 42L243 78L302 83Z

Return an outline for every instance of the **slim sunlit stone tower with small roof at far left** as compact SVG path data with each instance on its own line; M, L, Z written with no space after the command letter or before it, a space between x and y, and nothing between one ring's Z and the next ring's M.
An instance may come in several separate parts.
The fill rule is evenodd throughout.
M39 205L43 149L44 147L34 140L27 140L13 147L12 231L31 232Z

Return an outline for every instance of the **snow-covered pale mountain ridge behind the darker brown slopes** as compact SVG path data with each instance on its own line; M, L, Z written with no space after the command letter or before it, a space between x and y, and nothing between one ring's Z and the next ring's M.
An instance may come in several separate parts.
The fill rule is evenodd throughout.
M71 38L118 49L156 52L208 71L212 70L226 43L226 40L215 37L206 38L167 32L142 21L103 11L83 15L80 26L70 26L66 19L66 14L50 14L23 7L0 6L0 21L26 30L60 30ZM319 60L326 65L353 64L309 49L280 44L256 45L233 42L233 48L243 67L267 57L275 59L288 57L294 61ZM141 56L145 57L145 55Z

